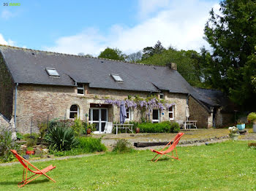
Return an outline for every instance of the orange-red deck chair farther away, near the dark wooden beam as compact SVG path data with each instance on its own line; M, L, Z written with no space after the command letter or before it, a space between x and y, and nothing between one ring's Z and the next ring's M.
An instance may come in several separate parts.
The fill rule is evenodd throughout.
M184 133L178 133L173 140L171 140L167 145L165 145L165 147L170 145L170 147L167 150L165 150L165 151L164 151L165 147L162 150L160 150L160 151L157 151L155 149L150 149L150 150L151 150L151 152L156 152L157 155L160 155L157 158L157 160L159 160L159 158L162 157L163 155L166 155L167 157L172 157L172 158L174 158L176 160L179 160L178 159L178 153L177 153L176 145L178 144L178 141L181 139L181 136L183 136L183 135L184 135ZM173 149L175 149L175 151L176 151L176 157L173 156ZM169 153L169 152L172 152L172 156L167 155L167 153ZM154 156L154 158L157 157L157 155ZM152 158L151 161L154 161L154 158ZM157 162L157 160L155 160L154 162Z

